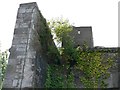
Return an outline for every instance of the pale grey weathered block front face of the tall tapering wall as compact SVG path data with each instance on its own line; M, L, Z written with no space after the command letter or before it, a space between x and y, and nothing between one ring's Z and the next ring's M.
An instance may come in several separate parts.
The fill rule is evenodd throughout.
M39 17L36 3L20 4L3 89L35 87L36 48L41 48L40 28L35 27Z

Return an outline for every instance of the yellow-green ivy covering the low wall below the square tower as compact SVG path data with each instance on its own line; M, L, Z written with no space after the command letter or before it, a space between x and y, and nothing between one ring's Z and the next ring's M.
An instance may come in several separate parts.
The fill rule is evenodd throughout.
M81 78L82 83L87 88L106 87L105 79L109 74L109 69L114 66L113 58L105 58L104 53L97 51L84 52L79 50L76 68L84 72Z

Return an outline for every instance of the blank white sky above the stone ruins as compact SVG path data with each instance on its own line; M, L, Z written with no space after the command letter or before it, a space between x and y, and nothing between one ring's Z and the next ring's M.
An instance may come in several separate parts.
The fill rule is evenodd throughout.
M0 42L11 47L20 3L37 2L46 19L63 17L74 26L92 26L94 46L118 46L118 1L120 0L1 0Z

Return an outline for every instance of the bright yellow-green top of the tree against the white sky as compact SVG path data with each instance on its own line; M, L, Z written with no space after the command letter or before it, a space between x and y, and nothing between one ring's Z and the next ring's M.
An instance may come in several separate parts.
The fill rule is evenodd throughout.
M48 21L49 28L51 29L52 34L55 34L55 38L58 43L61 43L63 39L69 37L68 33L72 31L72 26L69 24L69 21L63 18L52 19Z

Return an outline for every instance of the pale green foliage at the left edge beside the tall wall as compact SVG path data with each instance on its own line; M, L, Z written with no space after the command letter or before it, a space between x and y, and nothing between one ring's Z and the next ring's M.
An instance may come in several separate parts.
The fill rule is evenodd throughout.
M7 51L0 51L0 89L2 88L2 83L5 76L6 66L7 66L8 53Z

